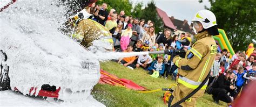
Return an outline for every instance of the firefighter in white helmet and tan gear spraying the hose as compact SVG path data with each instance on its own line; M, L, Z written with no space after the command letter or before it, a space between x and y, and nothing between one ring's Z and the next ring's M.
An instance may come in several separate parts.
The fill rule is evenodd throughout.
M217 45L212 35L218 35L218 28L214 13L209 10L200 10L192 19L193 29L197 39L190 51L186 52L185 58L174 55L173 63L178 67L178 86L170 97L171 105L177 103L206 79L213 65L217 53ZM195 106L196 99L203 96L207 82L192 97L180 103L181 106Z

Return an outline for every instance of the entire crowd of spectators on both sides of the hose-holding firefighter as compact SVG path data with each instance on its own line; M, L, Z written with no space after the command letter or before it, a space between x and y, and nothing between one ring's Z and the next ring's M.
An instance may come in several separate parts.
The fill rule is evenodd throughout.
M154 22L151 20L125 16L111 9L106 11L107 4L102 6L93 4L87 11L93 13L94 20L107 27L112 34L114 48L118 52L142 52L142 51L171 51L173 49L190 49L191 38L189 33L172 35L172 31L165 28L164 32L156 35ZM171 56L167 54L139 55L121 58L118 63L130 69L142 67L150 75L164 77L173 75L177 67L173 65ZM213 67L210 71L208 87L212 87L212 95L215 103L219 100L231 103L241 88L246 91L246 85L255 81L256 49L250 56L238 51L231 58L227 49L222 49L215 56ZM175 77L176 74L174 74ZM156 77L156 76L154 76ZM211 85L210 85L211 84ZM233 99L232 99L233 98Z

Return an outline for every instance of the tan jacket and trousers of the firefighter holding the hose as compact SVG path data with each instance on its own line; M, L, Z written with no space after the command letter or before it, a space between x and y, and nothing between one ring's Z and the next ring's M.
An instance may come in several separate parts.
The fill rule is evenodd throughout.
M180 56L173 58L173 63L178 67L179 74L178 89L176 88L177 91L174 91L173 96L178 100L190 94L204 81L213 66L217 53L215 40L207 31L196 34L195 38L197 41L192 45L190 51L186 52L185 58L180 58ZM203 96L207 83L192 97Z

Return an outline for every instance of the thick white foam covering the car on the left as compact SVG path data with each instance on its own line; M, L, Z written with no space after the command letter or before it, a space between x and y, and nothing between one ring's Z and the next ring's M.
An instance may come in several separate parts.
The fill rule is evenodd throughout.
M17 87L24 95L31 87L37 88L33 90L37 95L43 84L50 84L62 88L58 98L65 102L91 102L91 90L100 77L99 62L57 31L64 14L64 7L53 0L18 1L0 12L0 50L8 55L3 64L10 66L11 89ZM83 69L86 62L91 66Z

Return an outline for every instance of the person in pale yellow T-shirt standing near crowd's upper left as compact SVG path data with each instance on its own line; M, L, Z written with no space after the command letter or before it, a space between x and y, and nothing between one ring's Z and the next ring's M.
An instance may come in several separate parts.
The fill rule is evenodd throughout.
M117 19L117 13L112 13L111 14L111 20L107 20L107 22L105 24L105 27L107 28L107 30L110 31L110 33L111 33L112 28L114 28L112 30L112 32L113 32L115 30L115 28L117 27L116 19Z

